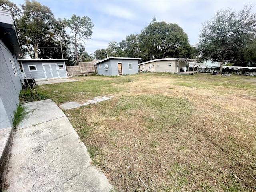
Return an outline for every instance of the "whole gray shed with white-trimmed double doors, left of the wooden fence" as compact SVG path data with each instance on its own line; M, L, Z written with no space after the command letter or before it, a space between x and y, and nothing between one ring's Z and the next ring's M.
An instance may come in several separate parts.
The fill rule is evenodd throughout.
M36 81L52 78L68 78L67 59L18 59L22 66L25 78L34 78Z

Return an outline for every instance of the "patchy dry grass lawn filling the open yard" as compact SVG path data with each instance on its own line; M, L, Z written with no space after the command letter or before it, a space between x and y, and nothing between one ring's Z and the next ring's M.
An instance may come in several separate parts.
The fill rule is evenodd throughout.
M40 90L57 104L114 96L64 112L117 192L256 191L256 77L80 80L72 92L60 84Z

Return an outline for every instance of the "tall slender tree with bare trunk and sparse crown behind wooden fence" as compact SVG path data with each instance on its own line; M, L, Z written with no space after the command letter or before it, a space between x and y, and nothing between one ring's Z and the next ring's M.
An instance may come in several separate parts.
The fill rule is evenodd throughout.
M64 19L66 25L71 29L71 33L74 34L74 46L76 52L76 62L79 65L79 56L78 56L78 40L89 39L92 36L93 24L89 17L79 17L73 15L71 19Z

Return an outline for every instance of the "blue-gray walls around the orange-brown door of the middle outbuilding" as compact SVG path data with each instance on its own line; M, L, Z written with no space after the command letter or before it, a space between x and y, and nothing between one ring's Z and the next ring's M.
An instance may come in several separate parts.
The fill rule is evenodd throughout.
M118 76L118 63L122 63L123 75L130 75L138 73L138 60L133 59L110 59L101 63L101 68L97 64L98 74L106 76ZM132 64L132 69L129 69L129 63ZM104 67L108 66L108 70L104 70Z

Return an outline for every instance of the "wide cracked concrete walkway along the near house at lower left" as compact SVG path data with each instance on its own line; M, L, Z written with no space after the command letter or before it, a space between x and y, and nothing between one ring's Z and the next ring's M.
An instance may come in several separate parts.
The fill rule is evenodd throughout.
M109 192L112 186L65 114L50 99L24 104L14 132L4 192Z

